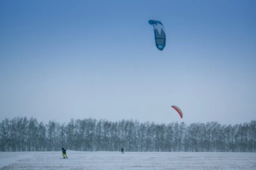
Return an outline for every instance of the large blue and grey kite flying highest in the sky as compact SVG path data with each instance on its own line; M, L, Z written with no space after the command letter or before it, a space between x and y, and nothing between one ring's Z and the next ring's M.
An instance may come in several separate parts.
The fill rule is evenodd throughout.
M163 24L160 21L156 20L149 20L148 23L154 28L155 43L158 50L164 50L166 38Z

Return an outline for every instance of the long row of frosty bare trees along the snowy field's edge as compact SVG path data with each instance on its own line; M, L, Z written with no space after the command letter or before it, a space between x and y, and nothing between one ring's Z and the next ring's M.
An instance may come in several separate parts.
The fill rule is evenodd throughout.
M0 123L0 151L189 151L255 152L256 121L158 124L137 120L71 119L67 124L36 118L5 118Z

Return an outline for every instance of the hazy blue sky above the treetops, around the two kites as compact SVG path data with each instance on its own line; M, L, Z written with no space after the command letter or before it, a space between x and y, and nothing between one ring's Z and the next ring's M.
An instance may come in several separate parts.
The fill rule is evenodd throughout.
M255 7L254 0L2 0L0 120L251 121ZM163 51L149 19L164 24Z

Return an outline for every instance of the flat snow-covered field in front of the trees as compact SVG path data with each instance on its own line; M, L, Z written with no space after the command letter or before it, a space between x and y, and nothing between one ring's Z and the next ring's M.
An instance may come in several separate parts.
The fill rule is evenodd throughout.
M0 152L0 170L256 170L256 153Z

